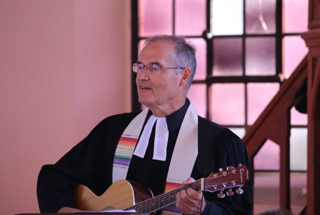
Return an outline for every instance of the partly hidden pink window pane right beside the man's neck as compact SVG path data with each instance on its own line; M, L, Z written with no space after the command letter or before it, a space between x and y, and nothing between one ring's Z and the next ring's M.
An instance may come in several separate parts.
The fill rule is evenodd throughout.
M206 116L206 85L205 84L191 84L187 94L188 99L195 107L199 116Z

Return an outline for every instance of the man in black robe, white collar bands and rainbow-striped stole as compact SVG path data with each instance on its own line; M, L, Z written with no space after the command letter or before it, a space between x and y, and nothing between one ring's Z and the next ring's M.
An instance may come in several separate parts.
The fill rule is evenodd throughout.
M37 184L40 211L73 211L77 184L99 195L112 182L126 179L158 196L208 175L213 167L216 172L238 163L248 166L241 140L197 116L186 98L195 68L195 49L184 38L148 38L133 64L139 102L148 109L104 119L56 164L43 166ZM249 183L242 195L218 199L215 193L204 192L203 198L189 188L176 194L176 208L162 212L249 215L251 189Z

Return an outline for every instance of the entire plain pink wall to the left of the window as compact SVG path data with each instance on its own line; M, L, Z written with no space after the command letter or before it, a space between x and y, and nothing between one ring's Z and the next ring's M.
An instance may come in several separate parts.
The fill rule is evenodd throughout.
M36 179L130 110L127 0L0 1L0 213L36 213Z

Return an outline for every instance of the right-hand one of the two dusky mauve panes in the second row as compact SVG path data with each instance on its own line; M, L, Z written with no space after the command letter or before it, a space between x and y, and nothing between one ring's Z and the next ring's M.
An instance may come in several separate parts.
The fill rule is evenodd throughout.
M275 39L253 37L245 39L245 74L275 74Z

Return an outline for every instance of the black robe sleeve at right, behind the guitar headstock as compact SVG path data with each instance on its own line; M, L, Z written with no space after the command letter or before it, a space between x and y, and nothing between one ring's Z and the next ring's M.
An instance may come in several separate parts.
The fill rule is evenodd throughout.
M213 140L212 155L214 172L218 172L219 168L225 170L227 166L237 167L238 164L242 164L250 173L245 146L229 129L222 129ZM243 194L238 195L234 192L233 196L225 195L223 199L219 199L217 193L204 192L206 206L203 215L252 215L251 177L242 189Z

